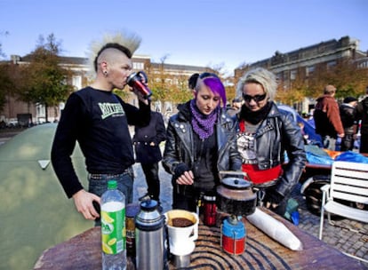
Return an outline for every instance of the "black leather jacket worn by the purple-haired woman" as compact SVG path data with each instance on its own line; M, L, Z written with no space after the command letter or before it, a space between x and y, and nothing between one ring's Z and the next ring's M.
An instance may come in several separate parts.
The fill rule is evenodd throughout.
M178 107L179 113L172 115L166 130L164 148L164 170L174 174L178 163L186 163L192 168L195 157L193 128L188 115L184 113L188 103ZM218 171L241 171L242 159L236 146L236 118L231 118L225 110L221 110L215 124L218 146Z

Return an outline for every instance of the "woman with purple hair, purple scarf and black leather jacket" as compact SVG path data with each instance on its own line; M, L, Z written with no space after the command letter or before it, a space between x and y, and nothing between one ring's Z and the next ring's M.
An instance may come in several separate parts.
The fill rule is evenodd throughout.
M189 83L192 83L190 80ZM226 114L226 92L212 73L198 76L194 99L178 106L166 131L163 165L172 174L172 209L196 211L203 195L214 195L219 171L241 171L236 120Z

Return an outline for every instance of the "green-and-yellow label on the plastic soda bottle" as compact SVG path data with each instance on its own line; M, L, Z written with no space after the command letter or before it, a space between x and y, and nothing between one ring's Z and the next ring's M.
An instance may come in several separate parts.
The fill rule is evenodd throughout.
M108 202L101 206L102 250L116 254L125 250L124 203Z

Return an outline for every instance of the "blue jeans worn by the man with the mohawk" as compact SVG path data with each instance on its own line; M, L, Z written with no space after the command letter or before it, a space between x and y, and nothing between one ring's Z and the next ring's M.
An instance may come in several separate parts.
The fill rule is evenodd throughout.
M101 196L108 190L108 181L116 180L117 189L125 195L125 205L132 203L134 173L132 167L121 174L88 174L88 192ZM100 205L94 203L100 213ZM100 218L95 220L95 226L100 226Z

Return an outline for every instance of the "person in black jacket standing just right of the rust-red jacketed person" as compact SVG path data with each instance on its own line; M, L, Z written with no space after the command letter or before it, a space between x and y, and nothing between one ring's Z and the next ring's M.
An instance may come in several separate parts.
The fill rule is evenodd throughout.
M356 123L354 108L356 107L356 103L356 98L347 97L340 105L340 118L345 133L344 138L341 139L340 151L352 151L354 148L354 124Z

